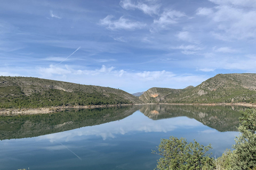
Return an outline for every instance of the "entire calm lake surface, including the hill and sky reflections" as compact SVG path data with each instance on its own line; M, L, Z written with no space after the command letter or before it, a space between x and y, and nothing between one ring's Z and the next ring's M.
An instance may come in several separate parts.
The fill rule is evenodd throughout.
M231 148L239 110L147 105L0 117L0 169L154 169L161 138Z

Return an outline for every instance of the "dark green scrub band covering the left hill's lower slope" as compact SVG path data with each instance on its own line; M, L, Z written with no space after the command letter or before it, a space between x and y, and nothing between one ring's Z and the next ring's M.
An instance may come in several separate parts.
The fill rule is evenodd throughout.
M14 91L17 92L14 93ZM5 92L5 95L2 95L0 98L0 108L119 104L132 104L132 102L115 94L103 95L97 91L90 94L84 92L67 92L63 90L49 89L42 92L34 92L33 94L26 96L18 87L17 89L13 89L10 94Z

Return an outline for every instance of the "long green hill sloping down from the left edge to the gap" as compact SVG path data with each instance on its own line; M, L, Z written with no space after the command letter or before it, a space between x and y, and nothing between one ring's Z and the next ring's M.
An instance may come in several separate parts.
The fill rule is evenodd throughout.
M123 90L27 77L0 77L0 108L142 103Z

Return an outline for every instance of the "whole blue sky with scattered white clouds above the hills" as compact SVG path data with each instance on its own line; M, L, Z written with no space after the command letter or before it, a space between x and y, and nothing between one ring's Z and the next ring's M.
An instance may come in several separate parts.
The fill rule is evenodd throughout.
M255 0L0 2L0 75L183 89L256 73Z

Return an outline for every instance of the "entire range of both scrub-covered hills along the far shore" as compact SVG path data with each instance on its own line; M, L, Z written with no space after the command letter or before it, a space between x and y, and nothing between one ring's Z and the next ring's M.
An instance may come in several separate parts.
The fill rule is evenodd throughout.
M256 103L256 74L217 74L196 87L123 90L28 77L0 77L0 108L121 104Z

